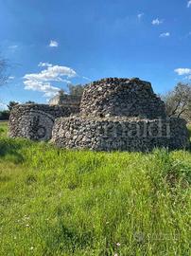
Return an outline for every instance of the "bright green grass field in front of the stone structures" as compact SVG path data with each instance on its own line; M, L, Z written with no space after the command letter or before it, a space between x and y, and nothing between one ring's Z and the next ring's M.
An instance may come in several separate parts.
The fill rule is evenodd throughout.
M0 255L191 255L190 152L65 151L0 127Z

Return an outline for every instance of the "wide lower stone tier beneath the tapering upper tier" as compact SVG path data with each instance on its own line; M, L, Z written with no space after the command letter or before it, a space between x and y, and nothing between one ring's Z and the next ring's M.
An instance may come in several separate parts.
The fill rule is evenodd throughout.
M188 134L183 119L71 117L56 119L52 142L68 149L147 152L186 148Z

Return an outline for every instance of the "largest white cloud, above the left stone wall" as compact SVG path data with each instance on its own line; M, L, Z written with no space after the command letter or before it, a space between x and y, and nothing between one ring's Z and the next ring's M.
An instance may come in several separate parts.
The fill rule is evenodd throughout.
M62 77L73 78L77 76L77 72L68 66L47 63L40 63L39 66L46 68L40 73L26 74L24 84L26 90L43 92L45 97L53 97L60 90L59 87L53 86L51 82L69 83L70 81L62 79Z

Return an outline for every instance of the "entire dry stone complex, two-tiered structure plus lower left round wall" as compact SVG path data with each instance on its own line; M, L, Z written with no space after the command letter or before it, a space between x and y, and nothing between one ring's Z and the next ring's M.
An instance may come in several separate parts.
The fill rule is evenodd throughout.
M150 82L109 78L85 87L75 105L16 105L9 136L49 140L68 149L141 151L186 149L186 122L168 119Z

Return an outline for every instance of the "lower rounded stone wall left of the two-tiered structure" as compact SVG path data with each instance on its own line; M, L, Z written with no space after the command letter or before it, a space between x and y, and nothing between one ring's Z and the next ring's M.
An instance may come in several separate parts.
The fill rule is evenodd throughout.
M52 136L55 119L69 117L78 111L77 106L16 105L13 107L9 118L9 137L48 140Z

